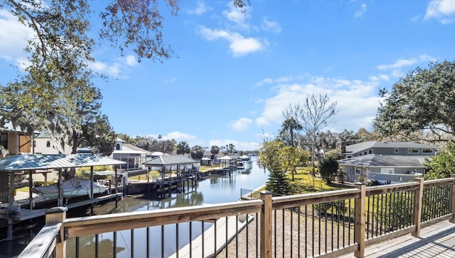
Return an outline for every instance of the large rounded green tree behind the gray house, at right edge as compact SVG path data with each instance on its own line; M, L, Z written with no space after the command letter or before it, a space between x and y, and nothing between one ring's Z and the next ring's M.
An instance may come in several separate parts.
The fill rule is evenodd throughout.
M449 141L455 137L455 62L430 62L428 69L416 69L402 77L385 98L374 120L380 135L410 135L430 131L432 141ZM421 139L428 140L428 139Z

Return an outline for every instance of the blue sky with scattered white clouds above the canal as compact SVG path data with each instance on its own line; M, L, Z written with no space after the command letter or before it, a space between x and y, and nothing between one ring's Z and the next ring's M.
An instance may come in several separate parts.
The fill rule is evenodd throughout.
M178 16L161 13L170 60L138 63L109 44L94 52L90 65L109 76L95 80L102 113L117 133L255 150L289 103L313 93L337 102L326 130L372 130L378 89L455 60L455 0L252 0L246 15L230 1L183 0ZM0 11L1 84L21 72L30 37Z

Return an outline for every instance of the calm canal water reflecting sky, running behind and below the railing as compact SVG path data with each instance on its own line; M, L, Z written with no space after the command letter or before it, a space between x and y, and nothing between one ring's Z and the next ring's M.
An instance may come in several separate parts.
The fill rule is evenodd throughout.
M95 215L109 213L124 213L131 211L151 211L163 208L176 208L183 206L198 206L202 204L227 203L238 201L241 196L242 189L255 190L265 184L268 178L268 172L263 168L259 168L255 160L252 161L250 167L238 169L232 172L231 176L213 175L197 182L197 187L189 189L183 193L171 194L166 198L158 198L152 195L134 195L125 196L122 201L119 201L118 207L115 208L115 202L104 203L95 206ZM68 217L77 217L90 214L90 208L86 210L69 211ZM21 252L21 249L36 235L44 221L36 220L31 222L31 225L24 225L24 230L21 230L23 235L18 235L14 241L1 241L0 250L5 249L6 252L0 252L0 258L15 257ZM211 223L191 223L191 236L189 234L190 223L181 223L178 225L178 247L181 248L188 244L190 238L198 237L202 230L209 228ZM168 257L176 251L176 225L166 225L163 228L149 228L151 242L146 243L147 229L141 228L134 230L119 231L114 234L112 232L100 234L98 239L94 235L80 237L80 257L92 257L95 253L95 242L98 242L100 257L112 257L113 240L116 238L117 257L146 257L146 245L149 245L151 257L161 257L161 232L164 232L164 257ZM132 242L134 249L132 249ZM67 242L67 250L75 250L76 241L70 239ZM5 256L6 254L6 256ZM75 257L74 252L68 252L67 257Z

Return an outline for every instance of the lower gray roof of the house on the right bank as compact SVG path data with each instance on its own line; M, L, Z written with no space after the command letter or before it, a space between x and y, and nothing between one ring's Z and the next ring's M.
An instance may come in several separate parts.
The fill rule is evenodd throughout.
M425 157L369 154L339 159L338 164L358 167L424 167Z

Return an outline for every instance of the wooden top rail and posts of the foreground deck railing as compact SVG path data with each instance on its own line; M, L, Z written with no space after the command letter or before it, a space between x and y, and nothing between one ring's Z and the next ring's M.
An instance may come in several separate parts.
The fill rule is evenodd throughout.
M46 213L46 225L39 232L38 236L24 249L19 257L49 257L55 252L56 257L65 257L65 240L67 237L81 237L85 235L100 234L103 232L117 232L121 230L132 230L136 228L147 228L157 225L168 225L186 223L201 220L216 220L218 218L232 215L245 215L261 213L260 232L261 234L261 254L270 257L272 252L272 211L277 209L292 208L296 206L306 206L311 204L342 201L355 199L355 246L349 246L351 250L355 248L355 257L363 257L365 246L372 240L365 240L365 200L368 196L380 194L390 194L403 191L417 191L414 194L413 208L414 213L422 212L423 189L451 185L451 214L444 214L436 220L442 218L454 223L455 218L455 175L449 179L436 179L417 182L393 184L385 186L358 185L356 189L345 189L337 191L326 191L312 194L299 194L295 196L273 197L269 193L262 192L262 199L252 201L237 201L232 203L205 204L202 206L191 206L181 208L168 208L154 211L137 211L129 213L116 213L107 215L93 215L83 218L65 218L65 208L53 208ZM382 204L381 204L382 205ZM414 236L419 235L422 226L419 215L414 217L410 227L402 229L400 232L412 232ZM64 232L64 233L63 233ZM63 237L63 235L65 235ZM64 238L60 241L60 238ZM378 239L389 239L390 236L381 235ZM373 240L377 241L377 240ZM340 253L344 253L342 250ZM346 249L345 249L346 251Z

